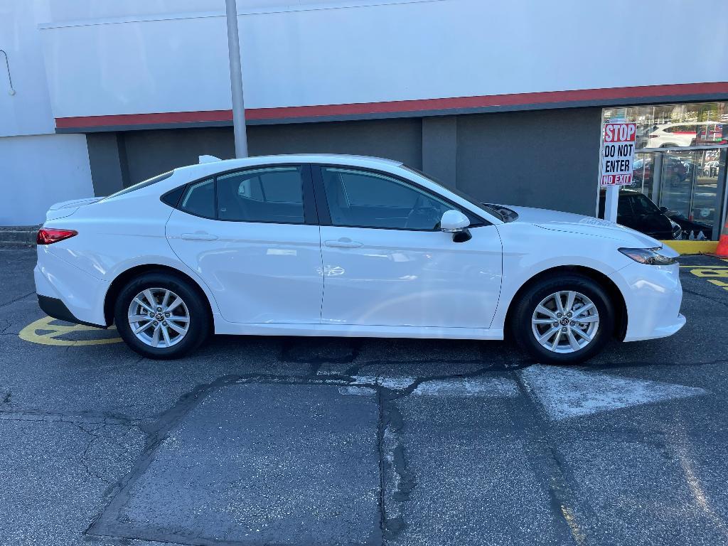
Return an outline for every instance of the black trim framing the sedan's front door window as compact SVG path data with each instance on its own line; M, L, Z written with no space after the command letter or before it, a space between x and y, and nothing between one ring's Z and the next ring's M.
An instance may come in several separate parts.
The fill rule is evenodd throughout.
M422 184L417 183L414 180L410 180L409 178L405 178L400 175L396 175L394 173L388 173L385 170L378 170L378 169L372 169L370 167L357 167L355 165L338 165L338 164L329 164L329 163L312 163L311 164L311 170L312 170L312 178L313 178L313 186L314 186L314 196L316 199L316 207L319 214L319 223L321 226L333 226L333 227L345 227L345 228L359 228L359 229L390 229L397 232L425 232L425 233L432 233L432 232L439 232L439 229L412 229L412 228L395 228L395 227L384 227L384 226L340 226L338 224L334 224L331 222L331 210L329 210L328 206L328 200L326 198L326 189L323 185L323 174L322 170L326 167L332 167L335 169L350 169L350 170L358 170L363 173L372 173L375 175L384 176L385 178L392 178L396 181L399 181L401 183L404 183L406 186L411 186L415 189L418 189L419 191L422 191L425 195L432 197L432 199L437 199L439 201L446 202L448 205L453 207L453 210L459 210L461 213L467 216L467 218L470 220L470 226L472 228L480 227L480 226L492 226L493 224L489 221L487 221L485 218L480 218L479 215L472 212L472 210L464 209L461 205L456 204L451 199L448 199L444 195L441 194L435 194L432 190L429 188L426 188L422 186Z

